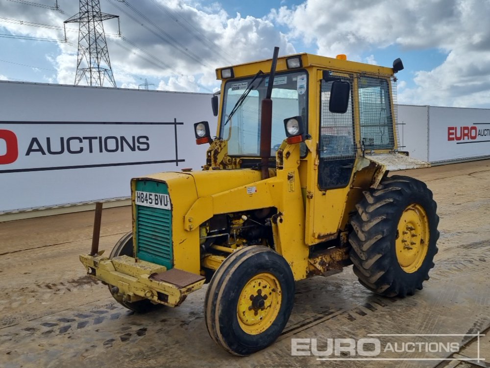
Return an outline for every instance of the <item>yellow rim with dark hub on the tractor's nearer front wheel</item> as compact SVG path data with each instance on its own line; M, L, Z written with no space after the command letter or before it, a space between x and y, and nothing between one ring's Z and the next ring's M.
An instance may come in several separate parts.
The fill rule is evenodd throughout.
M238 323L249 335L266 331L281 309L281 286L277 278L267 272L253 276L245 284L238 299Z

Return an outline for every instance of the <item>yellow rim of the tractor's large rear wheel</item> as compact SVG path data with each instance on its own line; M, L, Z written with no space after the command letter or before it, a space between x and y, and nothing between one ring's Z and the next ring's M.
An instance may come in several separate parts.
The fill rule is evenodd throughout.
M429 220L422 206L411 204L398 222L395 240L396 258L407 273L417 271L424 262L429 246Z

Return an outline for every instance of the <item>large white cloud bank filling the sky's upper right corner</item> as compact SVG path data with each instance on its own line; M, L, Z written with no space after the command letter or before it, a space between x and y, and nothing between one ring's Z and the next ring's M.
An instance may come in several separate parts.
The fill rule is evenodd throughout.
M448 54L433 70L415 73L415 88L400 103L489 105L490 1L488 0L307 0L272 11L269 19L290 26L290 41L317 46L319 54L362 53L397 45L403 50L436 48ZM374 61L369 56L365 62Z

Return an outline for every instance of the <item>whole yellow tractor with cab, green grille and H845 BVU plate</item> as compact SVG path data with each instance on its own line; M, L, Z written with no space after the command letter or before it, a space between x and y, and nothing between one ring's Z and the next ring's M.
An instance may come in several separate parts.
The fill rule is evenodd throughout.
M133 179L133 230L108 257L95 230L80 256L88 274L136 312L209 283L208 332L236 355L276 340L297 280L353 264L373 292L413 295L434 266L439 217L425 184L388 175L428 166L398 151L402 69L278 48L218 69L217 136L195 124L210 145L203 170Z

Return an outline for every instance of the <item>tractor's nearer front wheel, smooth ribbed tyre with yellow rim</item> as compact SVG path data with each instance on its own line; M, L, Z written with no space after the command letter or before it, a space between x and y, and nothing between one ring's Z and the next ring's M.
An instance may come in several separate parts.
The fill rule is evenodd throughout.
M204 315L211 338L235 355L249 355L274 342L294 303L294 277L286 260L265 246L231 254L213 275Z

